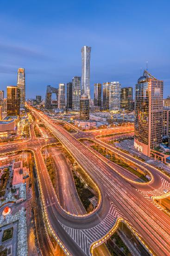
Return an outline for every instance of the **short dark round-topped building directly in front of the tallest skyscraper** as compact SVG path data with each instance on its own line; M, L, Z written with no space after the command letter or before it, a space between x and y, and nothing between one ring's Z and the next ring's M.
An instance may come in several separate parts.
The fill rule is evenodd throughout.
M80 99L80 120L89 120L89 99L86 94L83 94Z

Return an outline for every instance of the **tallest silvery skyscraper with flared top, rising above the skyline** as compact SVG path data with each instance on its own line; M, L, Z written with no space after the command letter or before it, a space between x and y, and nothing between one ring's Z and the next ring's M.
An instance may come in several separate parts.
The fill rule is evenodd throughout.
M82 94L90 98L90 52L91 47L82 47Z

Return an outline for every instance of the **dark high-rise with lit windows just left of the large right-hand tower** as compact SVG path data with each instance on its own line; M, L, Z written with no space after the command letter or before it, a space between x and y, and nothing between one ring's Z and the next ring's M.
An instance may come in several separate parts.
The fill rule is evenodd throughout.
M121 88L120 93L120 108L126 111L133 111L133 88Z

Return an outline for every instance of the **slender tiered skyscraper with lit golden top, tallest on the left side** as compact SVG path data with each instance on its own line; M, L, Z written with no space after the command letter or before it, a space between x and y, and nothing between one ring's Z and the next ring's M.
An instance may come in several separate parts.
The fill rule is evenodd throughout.
M18 68L17 86L20 88L20 108L25 108L25 69Z

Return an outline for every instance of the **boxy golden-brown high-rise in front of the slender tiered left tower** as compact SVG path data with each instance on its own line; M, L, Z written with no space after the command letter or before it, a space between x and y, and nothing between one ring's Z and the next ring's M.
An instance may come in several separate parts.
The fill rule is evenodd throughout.
M7 86L7 115L19 115L20 88Z

